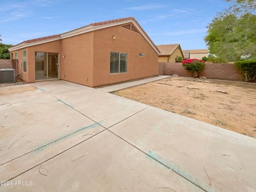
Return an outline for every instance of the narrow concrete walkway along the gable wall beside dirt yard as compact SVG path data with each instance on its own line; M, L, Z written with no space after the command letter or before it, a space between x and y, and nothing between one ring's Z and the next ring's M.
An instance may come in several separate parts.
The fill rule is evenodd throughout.
M159 75L157 77L150 77L150 78L141 79L141 80L138 80L138 81L132 81L132 82L127 82L127 83L120 83L120 84L117 84L117 85L105 86L105 87L98 88L97 90L104 91L104 92L117 91L117 90L125 89L125 88L128 88L128 87L137 86L137 85L157 81L159 79L163 79L163 78L167 78L167 77L170 77L170 76Z

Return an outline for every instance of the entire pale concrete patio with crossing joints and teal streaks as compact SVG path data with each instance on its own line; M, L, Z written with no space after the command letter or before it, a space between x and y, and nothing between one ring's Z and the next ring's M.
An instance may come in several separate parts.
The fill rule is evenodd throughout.
M253 138L101 90L0 88L1 191L256 191L255 159Z

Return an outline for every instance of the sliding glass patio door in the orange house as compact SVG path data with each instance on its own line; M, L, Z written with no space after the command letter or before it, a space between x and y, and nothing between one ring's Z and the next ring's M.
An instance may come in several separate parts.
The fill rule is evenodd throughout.
M35 52L35 80L58 79L58 53Z

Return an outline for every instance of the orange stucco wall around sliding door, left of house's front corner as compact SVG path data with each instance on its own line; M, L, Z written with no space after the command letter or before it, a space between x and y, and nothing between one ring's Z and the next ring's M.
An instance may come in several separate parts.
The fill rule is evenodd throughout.
M23 71L23 51L27 50L27 72ZM66 81L92 86L93 33L86 33L29 46L13 51L18 53L20 78L26 82L35 82L35 52L59 53L59 78ZM66 55L65 58L62 58Z

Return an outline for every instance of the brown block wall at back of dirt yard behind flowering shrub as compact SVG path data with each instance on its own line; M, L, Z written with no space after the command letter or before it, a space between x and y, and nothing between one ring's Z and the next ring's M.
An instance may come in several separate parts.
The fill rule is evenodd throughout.
M193 75L182 67L182 63L159 63L159 75L177 74L182 77L193 77ZM229 81L243 81L243 77L237 71L234 63L206 63L205 69L199 76L204 76L210 79L223 79ZM256 78L254 79L256 82Z

